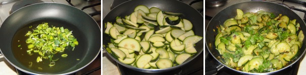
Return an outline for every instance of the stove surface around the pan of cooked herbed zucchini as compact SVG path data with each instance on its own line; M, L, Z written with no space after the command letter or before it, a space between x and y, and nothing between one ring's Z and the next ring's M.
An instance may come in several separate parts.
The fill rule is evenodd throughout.
M244 2L244 1L251 1L251 0L225 0L226 2L222 5L218 6L206 6L205 7L205 26L207 27L209 21L214 17L218 12L220 12L222 9L231 6L236 3ZM306 10L306 0L266 0L266 1L271 1L275 3L279 3L281 5L290 7L291 10L293 10L297 15L299 15L301 18L304 19L305 21L305 12L302 12L302 10ZM298 8L302 10L294 10L292 8ZM208 51L208 48L206 47L206 52ZM223 75L228 75L228 74L241 74L239 72L232 71L231 69L227 67L223 67L221 63L219 63L211 54L206 54L206 74L223 74ZM302 59L302 58L301 58ZM299 69L299 64L301 62L301 59L291 65L291 67L288 67L280 72L274 73L274 74L297 74L298 69ZM210 66L208 66L210 65Z

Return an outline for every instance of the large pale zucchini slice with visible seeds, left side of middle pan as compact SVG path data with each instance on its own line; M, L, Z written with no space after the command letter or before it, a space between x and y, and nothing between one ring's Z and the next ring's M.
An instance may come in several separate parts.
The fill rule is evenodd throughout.
M127 49L132 49L135 51L140 51L141 46L138 42L138 40L134 39L134 38L124 38L123 40L121 40L118 44L119 47L123 47L123 48L127 48Z

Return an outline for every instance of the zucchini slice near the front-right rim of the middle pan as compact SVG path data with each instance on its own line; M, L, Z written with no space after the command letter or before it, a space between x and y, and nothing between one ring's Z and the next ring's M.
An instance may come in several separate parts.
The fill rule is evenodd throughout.
M182 64L184 61L186 61L191 54L188 53L181 53L175 57L175 62L178 64Z

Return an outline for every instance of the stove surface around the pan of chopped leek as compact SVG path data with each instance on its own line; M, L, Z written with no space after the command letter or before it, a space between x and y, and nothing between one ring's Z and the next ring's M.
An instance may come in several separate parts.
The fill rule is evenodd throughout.
M0 0L0 26L2 25L3 21L10 15L10 10L14 11L19 9L22 6L17 6L12 8L12 6L17 3L25 3L20 2L22 0ZM29 1L38 1L38 0L26 0ZM101 26L101 0L41 0L42 2L57 2L63 3L71 6L75 6L83 10L84 12L88 13L92 16L92 18ZM29 4L22 4L24 6ZM91 6L90 6L91 5ZM12 66L5 57L0 53L0 74L27 74L16 69ZM99 55L86 67L82 68L81 70L72 73L72 74L101 74L101 54Z

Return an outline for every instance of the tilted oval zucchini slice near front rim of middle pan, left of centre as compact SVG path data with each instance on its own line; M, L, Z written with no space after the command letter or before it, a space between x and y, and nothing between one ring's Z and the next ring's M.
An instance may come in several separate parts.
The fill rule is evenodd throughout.
M136 61L136 66L139 68L144 68L146 64L150 62L150 60L153 58L150 54L142 54Z

